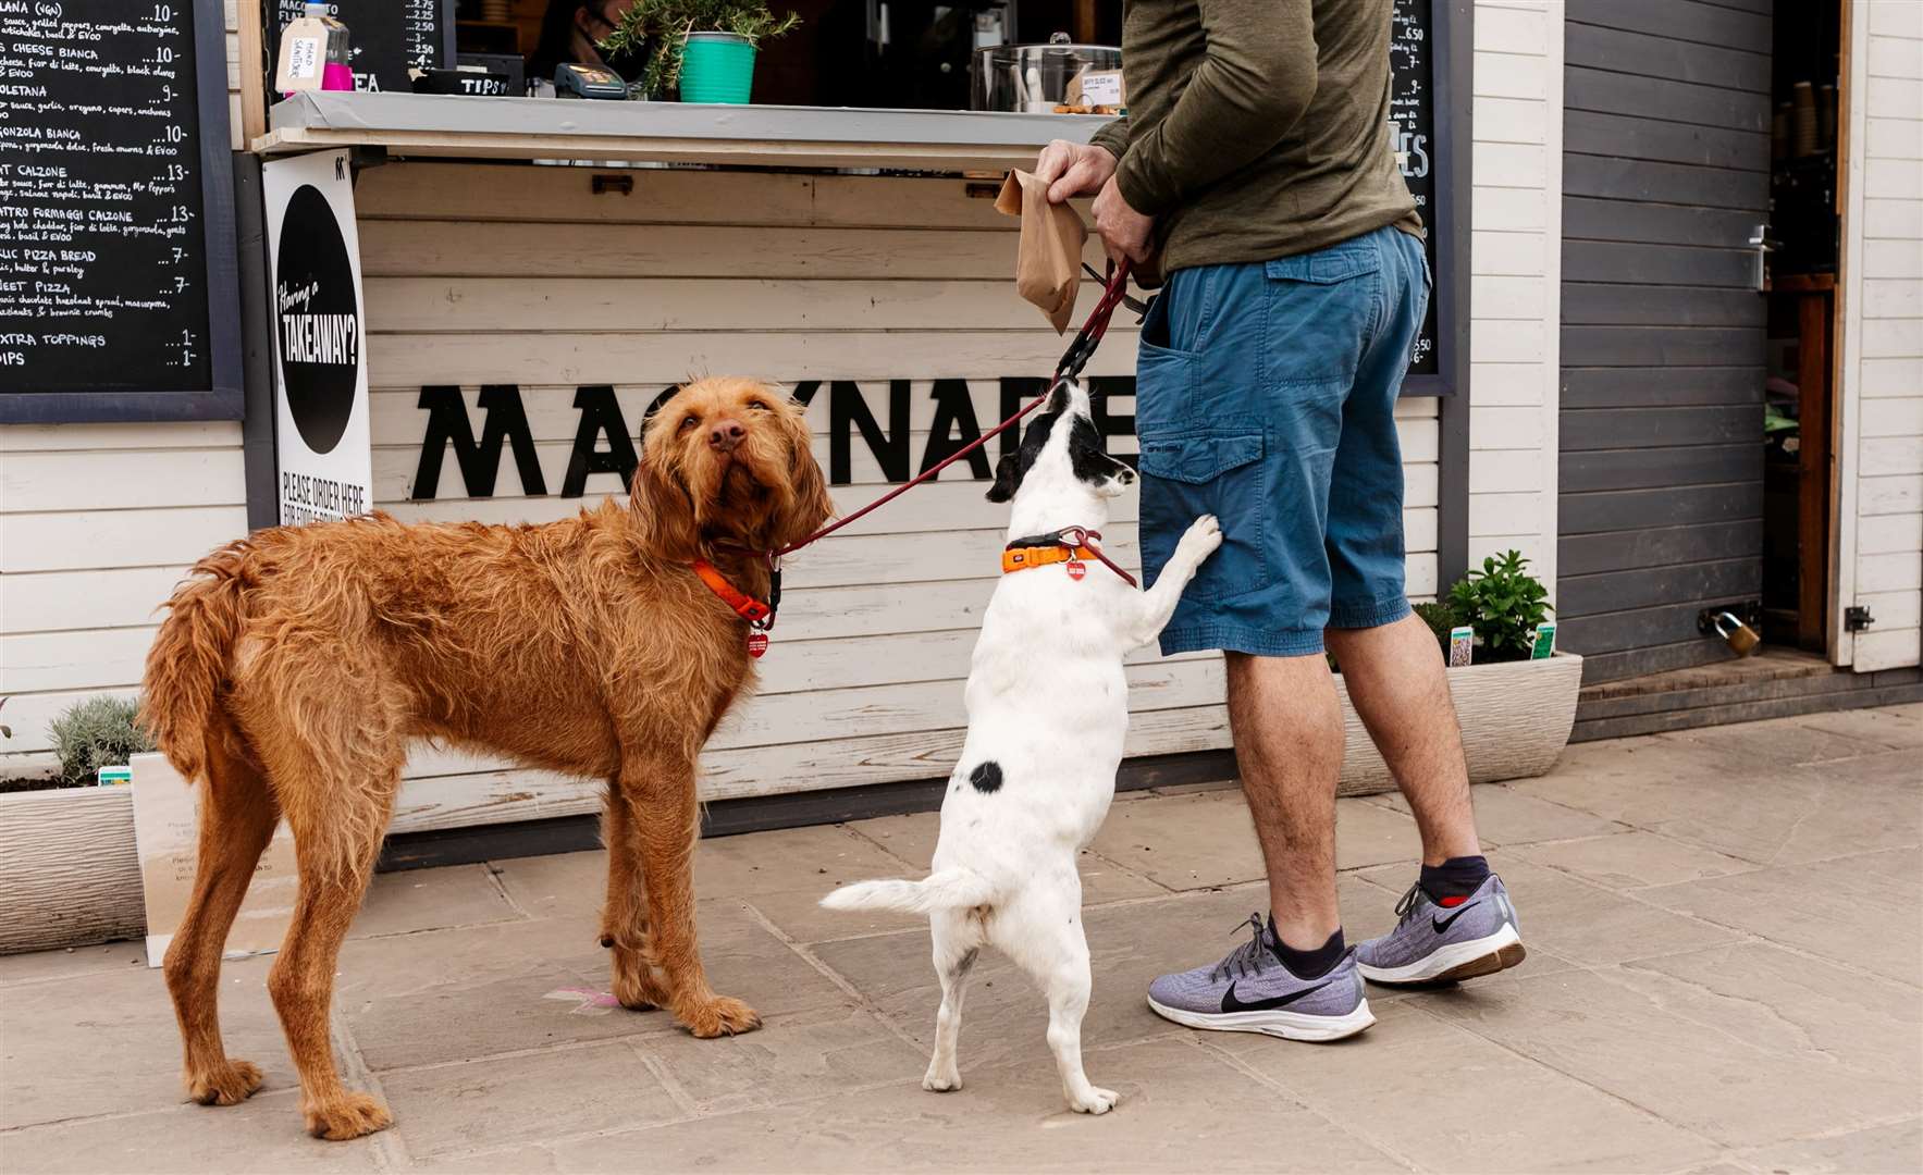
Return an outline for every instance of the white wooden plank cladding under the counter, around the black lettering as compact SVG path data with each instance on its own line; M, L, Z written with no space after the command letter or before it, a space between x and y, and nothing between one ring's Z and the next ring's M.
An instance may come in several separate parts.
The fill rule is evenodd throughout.
M785 388L856 381L883 431L904 427L919 469L935 379L963 379L975 423L1002 415L1002 377L1046 375L1063 338L1013 292L1013 221L963 181L608 171L633 190L592 192L594 169L402 163L363 173L362 215L373 385L375 500L421 521L546 521L621 490L590 475L560 498L581 412L577 387L612 385L633 440L660 390L690 373L744 373ZM608 185L604 185L606 188ZM1094 248L1088 260L1100 263ZM1085 287L1086 308L1092 287ZM1135 331L1117 321L1090 375L1131 375ZM888 381L910 413L888 419ZM481 385L519 387L548 496L523 496L504 446L494 496L469 498L440 462L415 500L429 412L421 387L456 385L475 437ZM827 465L829 396L810 408ZM1131 396L1108 410L1133 413ZM1411 594L1435 592L1435 404L1398 413L1408 473ZM606 440L600 442L606 450ZM1135 452L1115 437L1113 452ZM994 450L990 448L990 463ZM852 510L887 487L852 433ZM425 488L425 487L423 487ZM962 683L994 588L1006 508L965 465L794 556L762 687L704 756L704 796L746 796L946 775L965 715ZM1108 546L1138 565L1136 500ZM1227 746L1217 656L1129 667L1129 754ZM396 827L448 827L585 812L598 781L419 748Z

